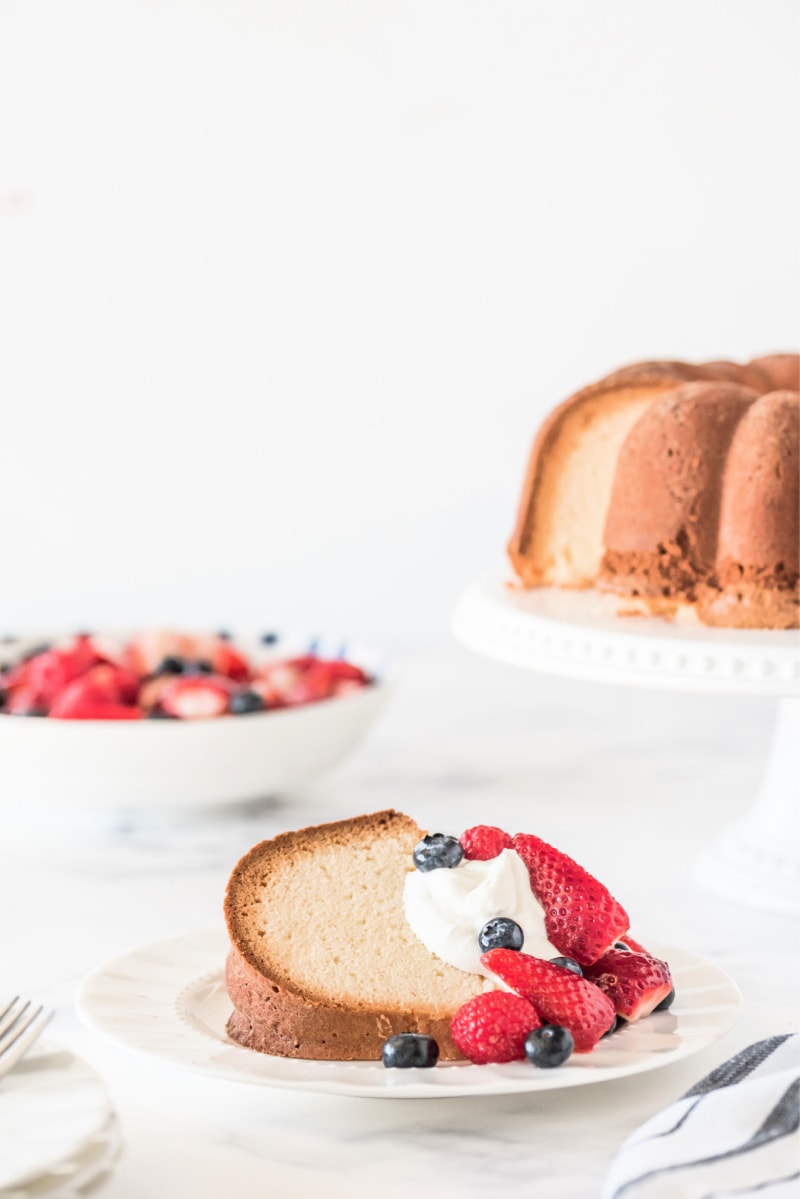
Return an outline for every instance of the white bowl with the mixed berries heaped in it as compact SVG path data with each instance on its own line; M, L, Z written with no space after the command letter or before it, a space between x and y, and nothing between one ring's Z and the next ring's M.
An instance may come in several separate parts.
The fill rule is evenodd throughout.
M265 799L333 766L385 694L374 651L295 635L5 639L0 791L76 808Z

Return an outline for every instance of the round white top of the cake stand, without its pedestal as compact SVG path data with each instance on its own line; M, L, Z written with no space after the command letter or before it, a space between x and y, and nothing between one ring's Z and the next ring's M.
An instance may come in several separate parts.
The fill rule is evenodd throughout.
M800 631L709 628L697 621L620 616L591 589L523 590L486 578L452 617L459 641L529 670L595 682L741 695L800 694Z

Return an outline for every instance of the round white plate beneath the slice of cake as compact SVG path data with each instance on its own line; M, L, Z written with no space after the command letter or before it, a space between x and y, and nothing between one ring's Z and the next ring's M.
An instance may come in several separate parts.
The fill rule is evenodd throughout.
M655 946L675 978L672 1008L620 1030L590 1054L573 1055L559 1070L536 1071L527 1062L405 1071L380 1062L296 1061L254 1053L227 1036L227 951L224 929L212 928L126 953L84 980L78 1011L92 1029L131 1049L215 1078L333 1095L441 1098L581 1086L668 1066L727 1032L740 1007L739 992L722 970Z

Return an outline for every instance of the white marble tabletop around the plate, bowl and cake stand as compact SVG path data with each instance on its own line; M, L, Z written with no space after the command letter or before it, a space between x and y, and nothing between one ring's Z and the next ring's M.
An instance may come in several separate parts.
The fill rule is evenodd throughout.
M798 927L696 885L744 815L775 703L555 680L451 644L397 663L362 748L294 795L194 818L13 812L0 838L2 987L54 1005L50 1037L104 1078L126 1147L103 1199L438 1194L588 1199L622 1139L745 1044L798 1026ZM8 815L8 808L12 815ZM251 844L396 807L431 829L534 831L597 874L639 939L712 960L744 1008L684 1062L563 1092L372 1101L219 1083L85 1029L76 984L126 948L221 922Z

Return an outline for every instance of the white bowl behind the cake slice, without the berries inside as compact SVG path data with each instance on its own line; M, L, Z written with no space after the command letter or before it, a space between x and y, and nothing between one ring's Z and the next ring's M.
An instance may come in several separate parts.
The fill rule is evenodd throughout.
M119 638L124 634L101 634ZM31 644L8 643L10 659ZM282 637L265 649L257 637L235 638L253 659L308 650L307 637ZM341 641L315 643L336 656ZM273 712L204 721L49 721L0 715L0 793L24 815L47 807L179 809L263 800L327 770L365 736L387 683L378 655L348 645L347 656L371 686L333 699Z

